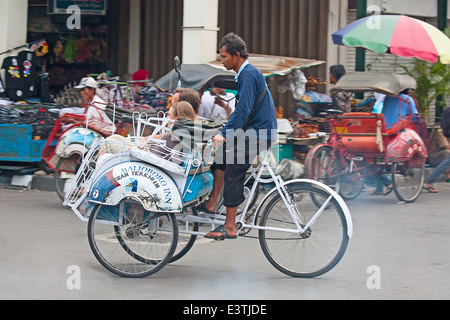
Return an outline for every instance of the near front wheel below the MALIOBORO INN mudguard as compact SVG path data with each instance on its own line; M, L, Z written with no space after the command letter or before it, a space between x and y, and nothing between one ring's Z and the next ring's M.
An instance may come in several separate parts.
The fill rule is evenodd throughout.
M88 222L88 240L100 264L127 278L142 278L161 270L178 241L173 213L145 211L134 200L117 206L96 205Z

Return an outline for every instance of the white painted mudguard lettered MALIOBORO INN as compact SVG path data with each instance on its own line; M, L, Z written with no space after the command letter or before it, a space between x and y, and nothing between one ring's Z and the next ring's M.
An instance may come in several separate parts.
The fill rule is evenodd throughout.
M142 162L126 162L105 171L92 184L89 201L116 206L125 198L139 201L152 212L182 211L177 185L161 169Z

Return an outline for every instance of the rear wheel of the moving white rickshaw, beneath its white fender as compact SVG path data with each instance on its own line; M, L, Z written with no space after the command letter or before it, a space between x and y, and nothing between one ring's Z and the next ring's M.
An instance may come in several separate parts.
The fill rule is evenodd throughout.
M318 211L310 194L323 203L331 195L307 184L288 185L292 205L302 226L306 226ZM262 213L260 226L296 229L286 204L277 194ZM335 198L313 224L303 233L259 230L259 242L264 255L279 271L292 277L313 278L330 271L347 249L346 217Z

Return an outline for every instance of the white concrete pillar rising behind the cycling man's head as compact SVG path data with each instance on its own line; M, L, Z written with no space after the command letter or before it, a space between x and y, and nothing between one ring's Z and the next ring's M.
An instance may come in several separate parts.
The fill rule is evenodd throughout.
M216 59L219 0L184 0L183 64Z

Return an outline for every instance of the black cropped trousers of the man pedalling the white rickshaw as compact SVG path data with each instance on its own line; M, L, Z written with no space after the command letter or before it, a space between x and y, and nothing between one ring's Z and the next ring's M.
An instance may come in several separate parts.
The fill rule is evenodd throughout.
M230 145L231 144L231 145ZM219 147L215 153L215 162L211 170L225 171L223 198L225 207L237 207L245 200L244 183L247 170L256 156L268 150L272 141L235 137L233 142Z

